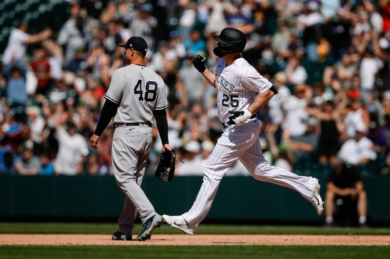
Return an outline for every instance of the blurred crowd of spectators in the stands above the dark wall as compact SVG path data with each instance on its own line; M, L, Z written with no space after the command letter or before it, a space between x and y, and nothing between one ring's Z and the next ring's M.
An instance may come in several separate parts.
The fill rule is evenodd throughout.
M222 125L216 91L191 62L205 55L215 69L212 36L225 27L247 35L242 56L279 91L257 114L271 164L389 173L390 0L73 0L66 11L59 31L17 22L1 53L0 173L112 173L112 125L97 150L89 137L125 65L117 45L137 35L166 84L177 174L202 175ZM154 138L149 173L156 127ZM237 174L249 174L239 162L227 173Z

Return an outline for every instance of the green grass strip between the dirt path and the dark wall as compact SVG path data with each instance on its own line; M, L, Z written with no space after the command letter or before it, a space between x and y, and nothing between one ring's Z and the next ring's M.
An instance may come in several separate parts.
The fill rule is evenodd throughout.
M108 223L0 223L0 233L45 234L111 234L117 224ZM134 234L141 230L136 224ZM179 234L181 231L168 225L157 228L155 234ZM321 234L321 235L390 235L387 227L332 227L322 226L264 226L264 225L215 225L200 224L196 234Z

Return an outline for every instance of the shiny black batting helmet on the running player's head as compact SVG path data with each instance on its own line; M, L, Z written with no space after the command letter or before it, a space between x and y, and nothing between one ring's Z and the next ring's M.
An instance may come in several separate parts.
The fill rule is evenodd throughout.
M240 30L234 28L223 29L221 34L213 36L213 39L222 43L218 49L223 54L241 53L247 44L245 35Z

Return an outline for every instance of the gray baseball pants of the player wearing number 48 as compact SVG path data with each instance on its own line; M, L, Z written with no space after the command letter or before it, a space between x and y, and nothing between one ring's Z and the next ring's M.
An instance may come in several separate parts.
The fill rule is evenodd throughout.
M113 171L118 187L126 194L118 219L120 232L132 233L137 212L142 224L156 214L140 187L152 144L152 128L149 126L117 126L114 131Z

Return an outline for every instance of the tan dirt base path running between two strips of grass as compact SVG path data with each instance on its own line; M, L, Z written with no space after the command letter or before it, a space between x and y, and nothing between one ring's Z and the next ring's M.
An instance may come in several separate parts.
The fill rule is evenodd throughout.
M136 238L134 235L133 238ZM151 240L112 241L110 235L0 234L0 245L390 245L372 235L185 235L156 234Z

